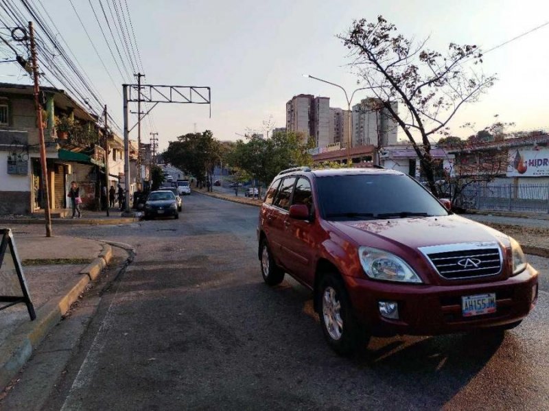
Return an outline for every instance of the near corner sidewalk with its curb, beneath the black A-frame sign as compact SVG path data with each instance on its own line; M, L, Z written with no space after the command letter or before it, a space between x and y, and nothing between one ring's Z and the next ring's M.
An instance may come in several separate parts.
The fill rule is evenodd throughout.
M0 311L0 392L113 255L108 244L76 237L14 235L14 241L36 320L25 304ZM4 276L0 294L12 292L9 283Z

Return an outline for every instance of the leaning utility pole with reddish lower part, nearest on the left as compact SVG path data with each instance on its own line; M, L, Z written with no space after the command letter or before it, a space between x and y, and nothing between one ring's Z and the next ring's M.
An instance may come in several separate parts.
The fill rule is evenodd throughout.
M38 65L36 64L36 44L34 43L34 27L32 21L29 21L30 35L30 53L32 56L32 76L34 78L34 106L36 108L36 121L38 121L38 141L40 143L40 168L42 169L42 186L43 196L46 201L44 204L44 215L46 220L46 237L51 237L51 213L49 210L49 183L47 180L47 165L46 165L46 145L44 142L44 128L42 126L42 107L38 95L40 95L40 87L38 86Z

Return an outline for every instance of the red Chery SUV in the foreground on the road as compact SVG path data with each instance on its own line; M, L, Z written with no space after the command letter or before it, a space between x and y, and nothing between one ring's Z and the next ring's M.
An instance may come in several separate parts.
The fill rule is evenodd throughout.
M513 238L393 170L285 170L257 235L264 281L288 272L313 290L340 354L369 336L511 329L537 301L537 270Z

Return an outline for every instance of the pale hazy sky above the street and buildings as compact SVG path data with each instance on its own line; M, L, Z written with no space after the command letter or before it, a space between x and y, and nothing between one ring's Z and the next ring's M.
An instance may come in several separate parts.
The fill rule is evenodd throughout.
M120 84L128 80L121 79L110 57L89 2L73 0L118 89L69 0L42 1L121 125ZM91 0L100 10L98 1ZM108 1L114 0L102 0L105 7ZM449 43L476 44L487 50L549 21L549 3L544 0L127 2L146 75L143 82L211 87L211 118L205 105L159 104L152 121L143 120L142 139L148 141L150 131L159 132L161 151L178 135L195 130L212 130L220 140L236 140L249 130L261 132L270 118L274 126L283 127L285 103L300 93L330 97L330 106L345 108L340 89L303 78L303 73L341 84L349 94L358 87L347 49L336 38L353 19L373 20L381 14L406 37L429 36L428 47L437 50L445 50ZM517 130L549 128L548 39L546 25L484 56L484 73L495 73L498 82L480 102L458 113L450 124L452 131L470 134L459 126L472 122L481 129L496 114L502 121L515 122ZM0 81L30 82L13 64L0 64ZM359 92L353 103L367 96ZM135 123L135 115L130 123ZM399 132L399 139L403 137ZM135 131L130 138L137 138Z

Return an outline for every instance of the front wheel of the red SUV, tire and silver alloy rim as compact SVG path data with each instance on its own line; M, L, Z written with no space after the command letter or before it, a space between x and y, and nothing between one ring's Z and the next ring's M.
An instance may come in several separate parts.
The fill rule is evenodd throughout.
M336 274L325 274L316 291L320 327L328 345L339 355L348 356L369 337L356 320L344 283Z

